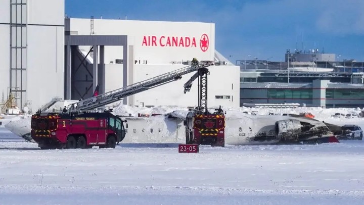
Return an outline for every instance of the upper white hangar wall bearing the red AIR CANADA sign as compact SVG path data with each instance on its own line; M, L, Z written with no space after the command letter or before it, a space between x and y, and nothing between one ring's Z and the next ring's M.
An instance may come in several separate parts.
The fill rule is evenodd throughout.
M70 32L90 35L90 19L70 19ZM94 19L95 35L128 35L133 38L134 60L148 64L171 64L197 58L212 61L215 24ZM89 46L80 46L89 49ZM121 46L105 46L105 62L122 59Z

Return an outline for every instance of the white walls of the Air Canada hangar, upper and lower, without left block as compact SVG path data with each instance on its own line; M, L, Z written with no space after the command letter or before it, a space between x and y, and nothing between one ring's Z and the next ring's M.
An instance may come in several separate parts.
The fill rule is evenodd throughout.
M71 35L127 35L128 82L133 84L167 72L183 68L184 61L197 58L199 61L213 61L215 56L215 25L200 22L160 22L133 20L94 19L94 30L90 30L90 19L67 19ZM86 54L90 46L79 46ZM123 85L122 46L105 46L105 91L121 88ZM131 58L130 58L131 57ZM77 60L78 61L78 60ZM110 62L113 62L110 64ZM92 61L87 63L88 71L79 69L77 89L85 90L90 82L85 81L92 74ZM237 66L212 66L208 78L208 106L239 107L240 68ZM99 73L101 71L99 70ZM196 106L197 81L190 92L183 93L184 83L194 73L181 80L162 85L128 97L131 106ZM100 77L100 76L99 76ZM77 77L78 78L78 77ZM89 80L89 78L87 78ZM100 81L99 81L100 82ZM82 84L82 86L81 86ZM89 91L84 97L90 97ZM114 104L113 106L119 103Z

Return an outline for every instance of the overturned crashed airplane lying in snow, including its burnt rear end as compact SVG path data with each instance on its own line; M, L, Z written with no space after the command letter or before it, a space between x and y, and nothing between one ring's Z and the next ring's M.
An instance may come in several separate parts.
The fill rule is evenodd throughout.
M129 124L123 143L184 143L186 114L186 111L175 111L152 117L123 117ZM350 132L341 126L301 115L262 116L228 111L225 116L225 143L230 145L339 142L337 135ZM5 127L34 142L30 136L30 122L29 116Z

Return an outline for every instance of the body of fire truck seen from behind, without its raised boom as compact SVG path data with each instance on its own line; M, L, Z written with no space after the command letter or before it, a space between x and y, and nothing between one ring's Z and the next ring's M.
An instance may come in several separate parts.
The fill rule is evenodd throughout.
M190 111L186 120L186 144L225 146L225 116L215 109L214 113Z

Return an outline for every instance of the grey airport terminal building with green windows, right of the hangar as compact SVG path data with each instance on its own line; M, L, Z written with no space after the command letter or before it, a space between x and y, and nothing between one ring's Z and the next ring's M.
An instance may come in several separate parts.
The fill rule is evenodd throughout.
M316 62L305 64L312 65L296 64L296 67L287 69L285 62L286 67L281 70L275 63L275 67L267 70L263 63L257 67L257 72L253 70L255 65L249 65L249 69L241 65L240 106L296 103L323 108L364 107L364 73L358 72L363 69L362 63L351 64L354 67L344 68L345 71L342 66L332 66L341 65L341 62L319 64L330 65L326 68L317 68Z

